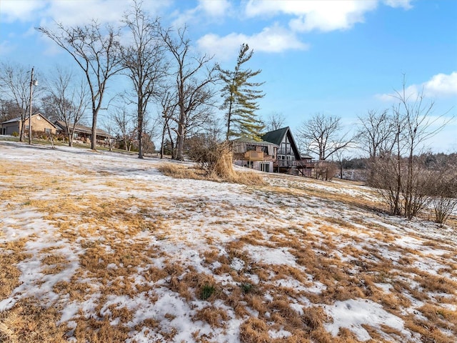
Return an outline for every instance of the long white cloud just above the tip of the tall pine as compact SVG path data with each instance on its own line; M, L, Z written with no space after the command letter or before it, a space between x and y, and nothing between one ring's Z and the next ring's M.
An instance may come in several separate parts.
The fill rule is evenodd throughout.
M241 44L247 43L254 51L281 52L286 50L306 50L308 45L302 43L291 31L281 26L266 27L258 34L229 34L218 36L206 34L197 41L199 48L215 54L220 60L231 59L236 56Z

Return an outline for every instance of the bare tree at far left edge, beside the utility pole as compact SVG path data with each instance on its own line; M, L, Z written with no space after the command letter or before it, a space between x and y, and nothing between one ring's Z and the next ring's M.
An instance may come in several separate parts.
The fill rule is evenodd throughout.
M0 65L0 89L14 106L14 112L21 117L19 141L24 141L24 124L29 118L30 109L30 71L19 64ZM29 123L30 124L30 123Z

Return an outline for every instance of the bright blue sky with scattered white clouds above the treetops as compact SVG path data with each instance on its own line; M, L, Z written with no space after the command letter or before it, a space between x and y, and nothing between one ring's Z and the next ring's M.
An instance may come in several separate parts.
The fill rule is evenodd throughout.
M232 68L240 44L254 49L266 96L259 114L280 113L298 127L321 112L353 129L368 109L392 106L406 76L408 93L421 89L434 115L457 116L457 1L144 1L164 26L183 26L196 49ZM0 59L35 66L46 75L74 62L34 27L119 23L125 0L1 0ZM75 68L76 69L76 68ZM429 141L434 151L457 151L454 120Z

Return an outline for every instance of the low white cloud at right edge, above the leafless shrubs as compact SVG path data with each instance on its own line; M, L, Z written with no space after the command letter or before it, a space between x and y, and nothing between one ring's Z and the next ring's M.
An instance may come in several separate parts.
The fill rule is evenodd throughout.
M411 84L405 88L406 99L416 99L423 92L424 96L446 98L457 96L457 71L451 74L436 74L422 84ZM395 93L378 94L376 97L382 101L392 101L398 97Z

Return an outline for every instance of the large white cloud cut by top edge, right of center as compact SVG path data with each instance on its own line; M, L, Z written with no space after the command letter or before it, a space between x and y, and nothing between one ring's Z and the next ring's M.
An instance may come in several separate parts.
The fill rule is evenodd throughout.
M411 8L410 0L386 0L391 7ZM275 16L286 14L295 18L289 21L291 29L299 32L334 31L351 29L364 21L364 14L377 8L378 0L328 0L328 1L270 1L249 0L246 16Z

